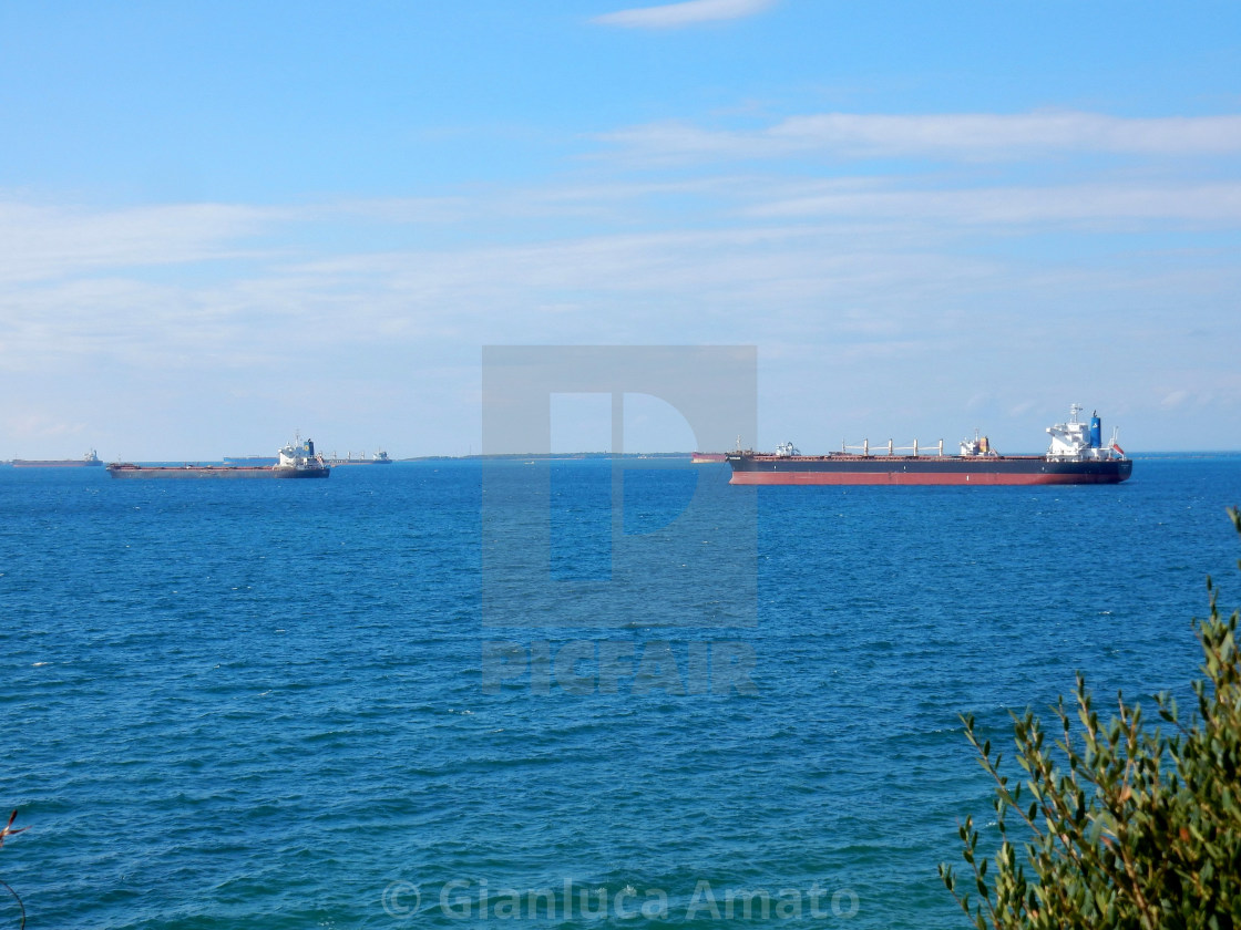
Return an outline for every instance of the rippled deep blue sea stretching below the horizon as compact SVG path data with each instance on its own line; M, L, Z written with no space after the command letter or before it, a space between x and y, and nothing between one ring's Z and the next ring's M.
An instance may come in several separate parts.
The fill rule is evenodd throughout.
M484 626L478 463L0 469L0 808L30 827L0 879L29 926L964 926L936 867L990 808L958 713L1004 742L1075 670L1103 704L1188 693L1206 574L1241 604L1239 456L1046 490L656 470L619 523L609 474L551 466L552 582L607 579L614 526L707 482L756 495L755 625L583 632L522 598Z

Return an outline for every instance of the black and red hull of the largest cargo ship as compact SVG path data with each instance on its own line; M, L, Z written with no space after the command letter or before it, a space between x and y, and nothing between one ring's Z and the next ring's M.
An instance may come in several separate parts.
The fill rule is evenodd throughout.
M1054 461L1041 455L774 456L730 455L733 485L1114 485L1128 459Z

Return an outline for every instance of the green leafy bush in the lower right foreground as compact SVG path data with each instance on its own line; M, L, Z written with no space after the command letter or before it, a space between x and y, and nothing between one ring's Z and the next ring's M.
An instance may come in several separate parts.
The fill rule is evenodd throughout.
M1241 515L1229 516L1241 533ZM979 853L967 818L973 875L941 864L939 877L979 930L1241 928L1241 611L1221 619L1210 579L1207 590L1210 616L1195 622L1204 678L1188 723L1160 694L1169 729L1152 729L1118 696L1104 725L1078 675L1076 707L1061 698L1054 708L1054 746L1033 713L1013 715L1024 777L1010 784L1000 754L962 717L995 780L1000 846L994 859Z

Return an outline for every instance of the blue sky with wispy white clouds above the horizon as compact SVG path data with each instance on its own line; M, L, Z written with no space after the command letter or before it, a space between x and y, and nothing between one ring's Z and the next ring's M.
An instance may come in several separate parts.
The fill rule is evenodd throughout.
M1239 449L1239 166L1231 2L10 1L0 459L477 451L545 343L757 346L762 448Z

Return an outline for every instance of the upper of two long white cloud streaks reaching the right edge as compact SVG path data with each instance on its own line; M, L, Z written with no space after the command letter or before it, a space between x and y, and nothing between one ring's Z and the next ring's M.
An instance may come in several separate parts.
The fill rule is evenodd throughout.
M634 160L692 162L779 159L932 157L1004 161L1055 153L1210 156L1241 154L1241 117L1127 119L1096 113L791 117L755 130L684 122L604 135Z

